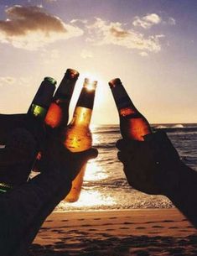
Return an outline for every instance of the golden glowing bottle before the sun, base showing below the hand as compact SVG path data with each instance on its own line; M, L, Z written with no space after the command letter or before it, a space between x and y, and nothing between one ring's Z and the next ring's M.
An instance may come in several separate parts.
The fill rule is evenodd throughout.
M80 152L90 149L92 145L91 113L94 105L95 91L97 81L85 79L80 97L76 103L73 118L65 129L64 144L71 152ZM70 193L65 197L65 201L74 202L79 199L83 177L85 175L86 165L84 165L79 174L72 182Z

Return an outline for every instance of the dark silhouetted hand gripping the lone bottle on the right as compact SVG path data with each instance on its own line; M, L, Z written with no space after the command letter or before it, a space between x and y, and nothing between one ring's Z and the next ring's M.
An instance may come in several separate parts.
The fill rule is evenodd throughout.
M144 139L117 141L117 157L129 185L148 194L166 195L178 180L179 154L166 133L151 133Z

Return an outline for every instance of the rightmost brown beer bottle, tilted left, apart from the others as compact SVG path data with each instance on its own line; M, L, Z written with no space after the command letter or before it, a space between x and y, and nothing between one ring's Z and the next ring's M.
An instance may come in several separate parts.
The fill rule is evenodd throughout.
M142 141L144 135L152 133L150 124L134 106L119 78L109 81L109 86L117 105L122 137Z

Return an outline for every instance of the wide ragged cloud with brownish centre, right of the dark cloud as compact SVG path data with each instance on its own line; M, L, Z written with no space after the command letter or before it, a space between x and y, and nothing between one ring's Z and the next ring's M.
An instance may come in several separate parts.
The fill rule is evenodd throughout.
M96 18L96 22L86 26L90 36L86 41L93 44L115 44L128 49L146 50L157 53L161 50L160 38L163 34L145 37L133 29L124 29L121 23L107 22L101 18Z

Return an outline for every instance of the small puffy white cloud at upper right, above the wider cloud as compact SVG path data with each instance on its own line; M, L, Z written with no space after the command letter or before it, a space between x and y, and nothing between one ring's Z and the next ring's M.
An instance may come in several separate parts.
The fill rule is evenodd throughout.
M150 29L153 25L160 24L162 18L156 13L147 14L143 18L136 16L132 24L135 27L142 27L143 29Z

